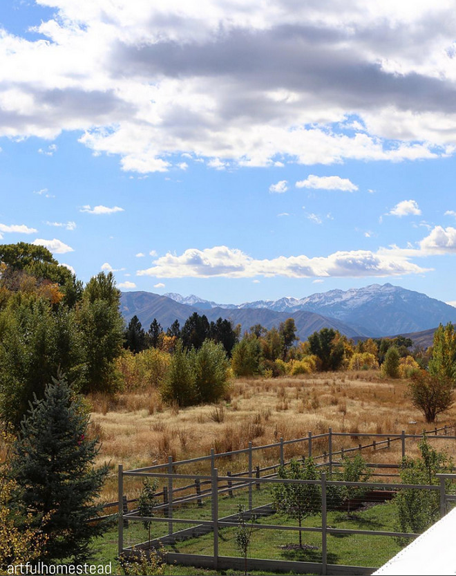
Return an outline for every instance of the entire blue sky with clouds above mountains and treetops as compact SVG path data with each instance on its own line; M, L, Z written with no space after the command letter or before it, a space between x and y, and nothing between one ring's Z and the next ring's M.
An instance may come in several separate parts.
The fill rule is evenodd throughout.
M2 0L0 243L239 304L456 303L453 0Z

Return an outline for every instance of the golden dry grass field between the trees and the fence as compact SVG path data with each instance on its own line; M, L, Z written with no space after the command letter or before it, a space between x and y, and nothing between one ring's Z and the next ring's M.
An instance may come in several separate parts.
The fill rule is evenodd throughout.
M91 433L102 440L99 461L111 461L124 470L163 463L168 456L187 459L216 452L255 446L333 431L354 433L337 439L334 449L357 446L356 433L420 434L426 425L421 413L406 396L406 380L386 380L379 371L318 373L276 379L234 380L225 401L179 409L167 407L157 390L118 394L115 398L92 396ZM439 426L456 422L456 407L439 418ZM363 440L368 443L367 440ZM441 441L439 448L454 452L455 441ZM314 454L326 448L314 442ZM410 449L412 447L410 446ZM287 447L285 456L300 455L303 445ZM301 452L300 452L301 451ZM409 449L408 449L409 453ZM260 453L256 453L260 458ZM400 443L377 454L364 454L369 461L399 462ZM262 456L256 464L278 460L278 454ZM275 462L273 462L275 461ZM238 462L242 466L242 462ZM236 463L231 463L236 471ZM103 499L117 496L115 474L106 484Z

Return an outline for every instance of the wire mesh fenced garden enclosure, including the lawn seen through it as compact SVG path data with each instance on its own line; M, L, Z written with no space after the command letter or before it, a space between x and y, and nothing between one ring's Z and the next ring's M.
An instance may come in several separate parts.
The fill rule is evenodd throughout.
M446 429L442 435L437 432L435 441L445 438L455 445ZM225 454L212 451L192 461L170 458L165 465L140 470L120 467L119 552L160 548L169 561L219 569L248 566L325 574L336 566L339 573L369 573L425 529L431 508L437 518L456 505L455 476L440 474L437 485L404 485L395 478L399 463L370 463L372 472L379 470L370 474L370 481L341 481L337 471L345 455L366 450L372 440L372 435L358 435L365 443L361 449L344 447L351 436L332 431L317 435L327 451L316 457L310 435L266 447L250 443ZM368 446L372 454L395 442L401 456L422 438L374 436ZM275 452L276 463L261 465L267 451ZM313 479L301 474L306 463L318 471ZM294 469L301 476L293 476ZM136 507L136 499L125 508L124 494L138 493L144 483L155 490L149 513ZM425 516L422 526L407 520L417 510Z

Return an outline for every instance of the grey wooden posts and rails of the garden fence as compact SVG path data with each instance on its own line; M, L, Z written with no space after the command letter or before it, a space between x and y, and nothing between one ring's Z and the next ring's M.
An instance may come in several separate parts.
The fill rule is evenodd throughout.
M434 428L430 431L424 431L426 436L432 435L433 438L446 439L446 440L456 440L456 436L450 436L448 432L450 427L444 426L441 428ZM439 432L441 434L439 434ZM372 443L359 444L356 447L341 447L340 449L334 449L334 439L349 437L350 439L357 438L373 438ZM378 440L377 440L378 438ZM401 538L413 538L417 534L412 532L397 532L395 530L354 530L351 528L338 527L334 528L327 525L327 490L334 487L345 487L345 489L362 488L367 490L368 488L375 488L377 491L381 492L386 499L387 493L393 494L392 491L400 489L408 490L430 490L434 492L439 492L440 500L440 512L443 515L446 512L449 502L456 501L456 495L446 494L445 481L448 478L455 479L456 476L453 475L442 475L440 478L439 485L404 485L401 483L385 482L385 481L369 481L369 482L340 482L327 479L326 472L322 472L321 480L315 481L302 481L302 480L291 480L291 479L281 479L278 478L278 468L289 464L290 460L285 460L285 446L292 445L296 443L307 443L306 454L302 455L303 461L309 456L313 456L314 452L314 440L324 439L327 442L327 452L323 454L318 454L313 456L314 460L317 461L319 467L325 467L329 472L329 477L332 474L333 467L340 467L342 465L343 458L347 454L353 452L363 452L366 449L372 449L377 452L381 449L388 449L391 444L401 443L401 454L406 456L406 449L408 447L408 441L417 440L422 438L422 435L418 434L406 434L402 431L400 434L365 434L365 433L354 433L354 432L333 432L332 429L325 434L312 435L310 432L308 436L304 438L297 438L294 440L283 440L278 443L254 447L249 443L249 447L245 449L236 450L234 452L225 452L221 454L216 454L212 449L211 454L207 456L201 456L199 458L191 458L184 461L173 461L171 456L169 457L168 463L153 465L150 467L137 468L135 470L124 471L122 466L118 470L118 490L119 499L117 502L106 503L104 508L113 507L117 505L117 516L118 516L118 549L120 554L124 555L135 555L138 549L146 549L148 546L158 546L159 543L164 545L172 544L175 541L185 540L191 537L196 537L200 535L208 535L212 533L213 538L213 554L209 556L193 555L189 553L176 553L167 552L169 559L173 561L178 561L181 564L186 564L194 566L211 566L213 568L222 568L226 564L230 564L232 568L238 565L239 559L235 556L224 557L219 554L219 531L225 528L234 528L238 526L238 517L236 514L228 514L220 517L218 506L219 499L223 496L229 496L234 498L236 494L240 494L247 505L247 513L257 514L260 512L263 516L268 514L273 514L274 510L271 503L263 503L260 507L254 505L254 494L263 494L263 491L257 492L262 486L272 487L280 486L284 484L295 484L295 485L315 485L319 489L321 494L321 526L291 526L291 525L281 525L278 523L261 523L260 526L256 523L247 522L245 526L260 529L260 530L276 530L278 532L286 533L289 532L313 532L321 538L321 562L302 562L302 561L282 561L278 559L250 559L249 569L254 569L255 566L265 566L269 561L268 569L280 570L281 567L289 566L294 564L294 569L303 570L305 567L308 570L312 570L321 574L331 574L336 573L336 565L331 564L328 561L328 549L327 549L327 538L329 537L343 537L353 536L372 536L372 537L401 537ZM253 465L252 454L258 452L260 449L278 449L278 463L274 465L268 465L260 467ZM225 474L219 474L218 467L216 463L218 459L225 458L227 456L233 455L247 455L248 459L248 470L243 470L241 472L225 472ZM196 472L187 472L187 469L182 471L180 474L178 472L179 467L188 466L193 463L210 463L211 470L209 474L198 474ZM368 467L371 469L379 469L385 472L372 473L372 476L381 476L388 479L392 479L397 474L397 470L401 467L397 463L368 463ZM390 470L395 472L390 472ZM124 494L124 480L126 479L144 479L144 478L154 478L160 479L162 481L163 489L156 493L156 496L162 498L162 503L156 505L153 509L154 515L151 517L142 516L139 514L138 510L129 510L129 505L134 505L137 499L126 499ZM383 492L382 492L383 491ZM265 494L269 494L265 492ZM391 497L390 496L390 497ZM230 498L228 501L230 501ZM375 500L375 499L374 499ZM201 515L193 514L191 517L181 517L180 510L193 510L192 505L196 505L194 510L205 506L203 510L207 511L207 505L205 501L210 503L210 518L203 518ZM221 501L220 501L221 502ZM234 502L234 501L233 501ZM226 508L226 501L225 501ZM160 514L157 516L155 514ZM250 516L251 518L251 516ZM151 522L156 526L168 526L167 533L160 538L154 538L151 541L135 543L134 546L124 546L124 528L128 526L128 523L132 522ZM179 527L183 528L180 529ZM175 529L178 528L177 532ZM362 528L362 527L361 527ZM272 532L271 532L272 533ZM136 550L136 551L135 551ZM196 563L196 564L195 564ZM337 565L339 567L339 565ZM353 573L353 574L368 574L371 573L374 568L366 566L340 566L341 570L339 573ZM259 568L265 569L265 568ZM287 568L287 570L292 570L293 568Z

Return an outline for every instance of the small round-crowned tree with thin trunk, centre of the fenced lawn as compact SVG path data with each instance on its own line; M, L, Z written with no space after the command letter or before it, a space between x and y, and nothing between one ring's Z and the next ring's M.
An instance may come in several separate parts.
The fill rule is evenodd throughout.
M288 480L319 480L320 474L312 458L307 458L304 464L292 460L288 467L281 466L278 478ZM274 484L272 488L274 507L284 512L287 517L298 521L301 528L303 520L321 511L321 487L310 483ZM303 546L301 530L299 530L299 546Z

